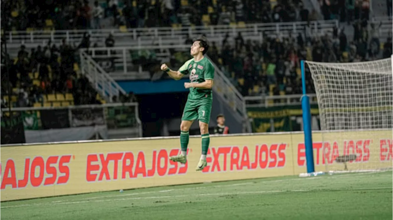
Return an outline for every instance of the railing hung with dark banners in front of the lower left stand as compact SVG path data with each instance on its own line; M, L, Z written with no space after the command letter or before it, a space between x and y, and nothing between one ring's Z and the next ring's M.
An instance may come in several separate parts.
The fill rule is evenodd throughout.
M107 103L66 107L11 108L13 117L22 117L25 130L107 126L108 131L127 137L142 137L138 103ZM1 117L9 117L9 109L0 109Z

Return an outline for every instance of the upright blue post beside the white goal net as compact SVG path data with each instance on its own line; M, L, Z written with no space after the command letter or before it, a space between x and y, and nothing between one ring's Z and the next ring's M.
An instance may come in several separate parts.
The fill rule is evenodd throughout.
M312 131L311 131L311 108L310 97L307 96L306 88L306 74L305 74L305 61L300 61L301 68L301 84L303 87L303 96L301 96L301 109L303 112L303 131L304 131L304 144L306 148L306 161L307 173L313 173L314 168L314 153L312 150Z

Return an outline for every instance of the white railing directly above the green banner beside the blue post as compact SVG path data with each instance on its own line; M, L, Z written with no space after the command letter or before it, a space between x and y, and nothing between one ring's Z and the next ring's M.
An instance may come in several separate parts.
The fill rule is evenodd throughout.
M271 107L285 105L301 105L302 94L281 96L245 96L246 107ZM316 94L308 94L310 104L318 104Z

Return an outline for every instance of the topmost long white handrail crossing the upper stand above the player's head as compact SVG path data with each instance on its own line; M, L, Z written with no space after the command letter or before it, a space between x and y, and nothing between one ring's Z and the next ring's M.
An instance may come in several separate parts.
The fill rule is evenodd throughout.
M328 21L313 21L310 22L311 27L316 27L318 24L322 29L331 29L337 25L335 20ZM136 28L121 31L120 29L100 29L100 30L57 30L57 31L12 31L5 34L9 43L41 43L42 40L51 39L52 42L66 39L68 42L80 41L85 32L89 33L92 38L106 38L108 34L113 34L115 38L126 37L125 41L134 40L134 43L141 45L142 41L151 43L152 40L157 40L157 43L162 42L163 38L178 39L178 36L190 35L198 36L206 34L209 38L222 37L225 34L234 35L237 32L244 32L246 36L258 37L261 32L270 32L274 34L283 34L283 31L301 32L303 31L307 22L285 22L285 23L255 23L240 25L216 25L216 26L197 26L197 27L156 27L156 28ZM94 39L97 40L97 39ZM132 43L132 41L129 41Z

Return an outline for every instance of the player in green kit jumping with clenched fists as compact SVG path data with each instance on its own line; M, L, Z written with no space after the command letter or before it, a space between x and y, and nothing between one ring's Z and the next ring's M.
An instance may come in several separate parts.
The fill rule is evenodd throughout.
M190 74L189 83L184 83L185 88L189 88L190 92L185 103L182 123L180 124L180 146L182 151L180 155L170 157L174 162L185 164L187 162L187 146L189 140L189 129L194 120L199 120L200 134L202 136L202 155L196 170L200 171L206 167L206 154L209 148L209 120L213 95L211 88L213 87L214 67L213 64L204 57L209 49L208 40L205 36L196 39L191 45L192 59L185 62L178 71L171 70L164 63L161 70L175 79L181 79L185 74Z

